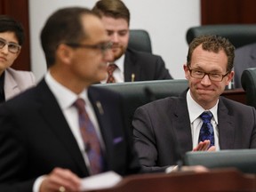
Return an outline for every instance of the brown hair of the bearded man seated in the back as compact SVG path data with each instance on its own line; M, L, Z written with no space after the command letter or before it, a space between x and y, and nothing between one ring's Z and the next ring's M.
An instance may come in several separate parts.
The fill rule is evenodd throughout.
M92 8L92 12L115 19L122 18L130 24L130 12L121 0L100 0Z

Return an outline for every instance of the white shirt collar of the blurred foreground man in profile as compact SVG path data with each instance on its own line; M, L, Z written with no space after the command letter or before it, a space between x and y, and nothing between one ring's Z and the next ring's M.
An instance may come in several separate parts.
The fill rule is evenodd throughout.
M82 98L85 100L85 102L88 100L86 89L77 95L75 92L70 91L67 87L57 82L49 71L45 75L45 82L48 84L53 95L56 97L61 109L72 106L77 98Z

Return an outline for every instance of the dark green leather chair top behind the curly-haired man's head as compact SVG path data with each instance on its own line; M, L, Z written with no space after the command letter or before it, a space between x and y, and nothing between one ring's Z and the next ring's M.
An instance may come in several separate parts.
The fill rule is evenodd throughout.
M237 48L256 42L256 24L204 25L188 28L187 43L190 44L196 36L201 35L224 36Z

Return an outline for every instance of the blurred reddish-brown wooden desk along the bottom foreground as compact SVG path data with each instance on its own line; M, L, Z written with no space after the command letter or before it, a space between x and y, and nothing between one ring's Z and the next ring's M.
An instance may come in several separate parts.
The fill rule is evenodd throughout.
M210 172L172 172L129 176L116 187L94 190L98 192L231 192L256 191L254 174L236 169L219 169Z

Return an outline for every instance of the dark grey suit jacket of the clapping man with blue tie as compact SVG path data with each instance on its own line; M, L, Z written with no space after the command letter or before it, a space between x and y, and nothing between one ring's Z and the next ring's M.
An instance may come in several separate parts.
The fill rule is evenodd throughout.
M220 97L218 121L220 149L256 148L255 108ZM132 126L145 169L163 170L177 164L193 148L186 92L138 108Z

